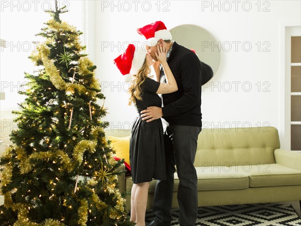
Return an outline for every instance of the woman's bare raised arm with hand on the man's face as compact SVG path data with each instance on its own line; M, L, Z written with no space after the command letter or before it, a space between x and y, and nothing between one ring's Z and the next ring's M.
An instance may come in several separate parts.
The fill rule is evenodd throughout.
M157 46L158 53L155 52L158 61L162 64L164 73L168 83L160 83L156 93L165 94L172 93L178 90L178 85L171 68L166 61L167 51L161 45ZM156 73L157 74L157 73Z

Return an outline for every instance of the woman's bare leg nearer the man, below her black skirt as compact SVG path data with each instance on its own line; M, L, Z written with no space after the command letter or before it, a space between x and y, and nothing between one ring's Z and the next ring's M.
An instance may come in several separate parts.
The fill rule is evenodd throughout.
M136 225L145 225L145 211L147 206L149 182L138 183L135 191L135 211L136 211Z

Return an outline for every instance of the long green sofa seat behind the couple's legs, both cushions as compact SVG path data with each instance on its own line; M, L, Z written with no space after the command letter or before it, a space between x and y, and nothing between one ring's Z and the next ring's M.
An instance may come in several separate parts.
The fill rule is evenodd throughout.
M196 167L198 191L236 190L248 187L275 187L301 185L301 173L279 164ZM126 178L126 190L132 187L131 176ZM154 192L156 181L149 185L149 192ZM177 191L179 178L175 173L174 192Z

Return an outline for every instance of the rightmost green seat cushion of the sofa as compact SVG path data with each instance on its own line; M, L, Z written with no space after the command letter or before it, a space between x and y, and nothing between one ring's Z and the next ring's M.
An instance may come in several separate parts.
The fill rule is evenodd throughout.
M301 172L279 164L235 166L235 171L248 174L250 187L301 185Z

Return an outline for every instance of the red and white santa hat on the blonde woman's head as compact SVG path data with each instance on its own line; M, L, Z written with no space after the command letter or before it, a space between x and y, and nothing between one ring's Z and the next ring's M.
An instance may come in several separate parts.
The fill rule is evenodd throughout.
M146 51L141 46L135 47L129 44L124 53L114 59L114 64L117 66L122 75L137 74L142 67L146 57Z

